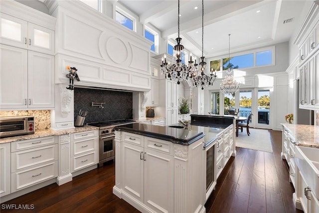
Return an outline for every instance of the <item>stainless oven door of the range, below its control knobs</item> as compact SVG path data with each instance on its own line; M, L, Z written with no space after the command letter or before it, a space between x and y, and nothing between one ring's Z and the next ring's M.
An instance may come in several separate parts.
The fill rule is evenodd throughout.
M115 158L115 135L99 137L99 164Z

